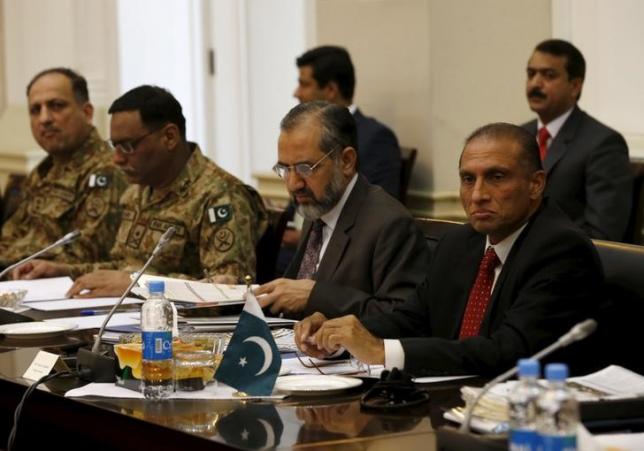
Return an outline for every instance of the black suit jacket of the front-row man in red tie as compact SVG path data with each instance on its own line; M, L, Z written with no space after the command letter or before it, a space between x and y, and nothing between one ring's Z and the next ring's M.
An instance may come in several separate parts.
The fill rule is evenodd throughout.
M439 242L428 279L391 315L367 315L383 338L402 338L413 374L492 375L593 317L603 273L595 247L559 208L544 203L519 235L494 286L480 335L458 333L485 236L466 225Z

